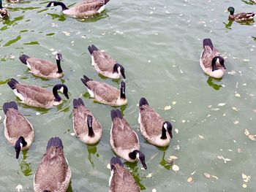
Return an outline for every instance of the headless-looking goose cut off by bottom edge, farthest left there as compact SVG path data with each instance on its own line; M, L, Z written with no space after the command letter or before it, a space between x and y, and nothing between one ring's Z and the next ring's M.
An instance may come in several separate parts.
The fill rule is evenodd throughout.
M71 178L71 170L64 156L59 137L50 138L45 155L34 174L35 192L66 192Z

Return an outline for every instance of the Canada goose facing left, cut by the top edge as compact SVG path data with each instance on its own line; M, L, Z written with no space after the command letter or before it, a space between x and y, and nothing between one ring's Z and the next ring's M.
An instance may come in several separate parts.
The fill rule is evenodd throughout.
M107 4L108 1L110 0L82 1L80 3L75 4L75 6L71 7L70 9L67 8L67 6L62 2L50 1L46 7L53 7L59 5L61 6L64 15L68 15L74 18L88 18L104 11L105 4Z

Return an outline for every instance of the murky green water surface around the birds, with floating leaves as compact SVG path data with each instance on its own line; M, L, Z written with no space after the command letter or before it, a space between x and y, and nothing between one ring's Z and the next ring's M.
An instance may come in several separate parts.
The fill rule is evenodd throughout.
M47 3L4 1L11 17L0 22L0 106L18 101L7 85L11 77L49 89L62 82L69 88L70 99L50 110L18 103L36 136L19 160L4 138L4 112L0 112L0 191L17 191L18 184L23 185L22 191L33 191L34 172L48 139L55 136L62 139L72 169L68 191L108 191L107 165L114 155L109 142L113 107L89 99L80 77L86 74L116 87L119 82L94 71L87 50L91 44L125 67L128 104L121 110L139 135L148 169L142 170L139 163L125 166L143 191L256 191L255 142L244 134L246 128L256 134L256 26L228 23L228 13L224 12L229 6L236 12L255 11L256 5L230 0L110 0L98 17L75 20L61 15L60 7L46 9ZM207 37L226 58L230 73L226 72L222 80L211 79L200 69L202 40ZM64 58L61 80L34 77L18 59L25 53L54 61L54 51L60 51ZM79 96L102 124L103 136L96 146L86 146L70 135L72 99ZM173 123L173 139L166 149L148 145L138 131L137 104L142 96ZM164 110L165 106L171 109ZM178 157L174 162L178 172L167 162L170 155ZM225 164L218 155L231 161ZM251 176L248 183L242 173ZM193 183L187 182L189 177Z

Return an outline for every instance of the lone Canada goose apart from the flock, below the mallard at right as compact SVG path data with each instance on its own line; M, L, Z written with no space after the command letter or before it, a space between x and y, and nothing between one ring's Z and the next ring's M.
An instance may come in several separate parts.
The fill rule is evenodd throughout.
M224 62L224 58L214 47L211 39L203 39L203 51L200 56L203 72L214 78L222 78L226 69Z

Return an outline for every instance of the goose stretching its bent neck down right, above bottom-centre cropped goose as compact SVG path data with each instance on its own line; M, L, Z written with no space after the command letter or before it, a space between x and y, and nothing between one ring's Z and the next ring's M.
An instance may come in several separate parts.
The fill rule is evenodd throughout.
M145 155L140 152L138 135L123 118L121 111L111 110L111 119L110 145L113 151L129 162L135 162L139 159L144 169L147 169Z

